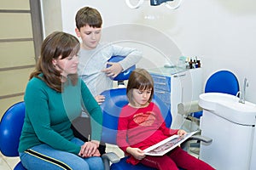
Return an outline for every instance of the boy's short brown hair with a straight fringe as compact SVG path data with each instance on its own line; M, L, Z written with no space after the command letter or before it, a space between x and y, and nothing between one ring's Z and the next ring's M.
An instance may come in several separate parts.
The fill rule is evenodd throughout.
M96 8L84 7L80 8L75 17L76 26L80 30L86 25L90 27L101 28L102 16Z

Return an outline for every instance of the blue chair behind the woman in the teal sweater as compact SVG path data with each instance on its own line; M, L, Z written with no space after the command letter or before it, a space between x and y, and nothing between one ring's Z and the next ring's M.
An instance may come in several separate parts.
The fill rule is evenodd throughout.
M19 156L18 146L24 117L25 103L23 101L10 106L3 114L0 122L0 148L3 156ZM26 170L21 162L18 162L14 169Z

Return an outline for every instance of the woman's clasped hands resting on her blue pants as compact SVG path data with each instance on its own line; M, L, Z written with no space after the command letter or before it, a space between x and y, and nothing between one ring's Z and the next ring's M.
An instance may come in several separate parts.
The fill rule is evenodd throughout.
M99 144L95 141L85 142L81 146L79 156L81 157L90 157L90 156L101 156L99 150L97 149Z

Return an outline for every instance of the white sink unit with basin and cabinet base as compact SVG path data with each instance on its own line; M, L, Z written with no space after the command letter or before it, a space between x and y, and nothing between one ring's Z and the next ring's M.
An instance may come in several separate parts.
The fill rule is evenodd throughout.
M212 139L212 144L201 143L201 160L215 169L254 170L256 105L241 104L238 97L221 93L201 94L199 105L201 135Z

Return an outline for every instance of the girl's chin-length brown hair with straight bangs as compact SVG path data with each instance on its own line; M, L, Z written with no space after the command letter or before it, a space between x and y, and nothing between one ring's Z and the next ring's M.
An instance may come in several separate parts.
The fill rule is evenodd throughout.
M139 90L147 90L151 89L151 95L148 99L150 102L153 98L154 94L154 80L151 75L145 69L137 68L131 72L131 76L129 77L127 88L126 88L126 95L131 103L131 105L135 105L132 99L132 90L139 89Z

